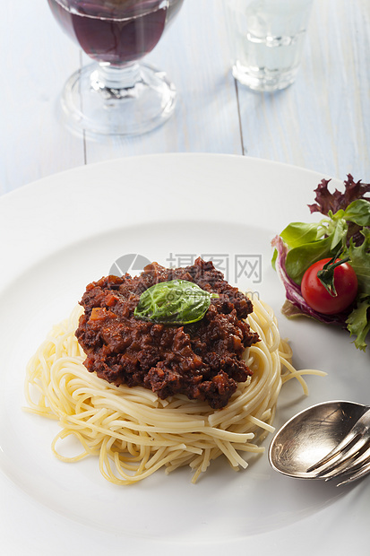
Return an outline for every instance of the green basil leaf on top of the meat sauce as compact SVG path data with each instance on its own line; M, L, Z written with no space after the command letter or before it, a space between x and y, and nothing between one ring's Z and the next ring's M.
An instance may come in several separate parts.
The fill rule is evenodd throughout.
M204 317L217 293L187 280L159 282L143 291L133 315L154 323L187 325Z

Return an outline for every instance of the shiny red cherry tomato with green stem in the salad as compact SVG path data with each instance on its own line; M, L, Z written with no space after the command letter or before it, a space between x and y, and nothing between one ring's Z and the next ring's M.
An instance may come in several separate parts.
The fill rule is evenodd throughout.
M326 290L317 277L317 273L330 260L330 258L324 258L307 268L301 282L301 291L305 302L323 315L335 315L344 311L357 295L357 275L348 263L343 263L334 269L334 287L337 295L332 296Z

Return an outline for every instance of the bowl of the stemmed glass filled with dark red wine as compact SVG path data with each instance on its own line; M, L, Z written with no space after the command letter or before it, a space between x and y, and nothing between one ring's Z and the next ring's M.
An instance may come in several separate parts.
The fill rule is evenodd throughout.
M91 58L138 60L157 45L183 0L47 0L63 29Z

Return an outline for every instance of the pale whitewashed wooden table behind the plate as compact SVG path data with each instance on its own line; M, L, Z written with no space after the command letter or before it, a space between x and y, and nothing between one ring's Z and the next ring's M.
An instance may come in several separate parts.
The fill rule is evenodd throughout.
M86 141L65 129L58 95L83 62L47 0L4 0L0 193L61 170L159 152L222 152L370 181L370 3L316 0L297 82L253 92L230 73L222 0L185 0L148 61L180 100L165 126Z

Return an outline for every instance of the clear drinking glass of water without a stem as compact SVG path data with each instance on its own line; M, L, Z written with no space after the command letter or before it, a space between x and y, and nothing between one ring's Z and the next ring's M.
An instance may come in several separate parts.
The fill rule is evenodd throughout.
M234 77L256 91L294 83L313 0L224 0Z

